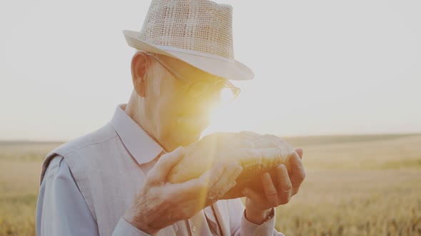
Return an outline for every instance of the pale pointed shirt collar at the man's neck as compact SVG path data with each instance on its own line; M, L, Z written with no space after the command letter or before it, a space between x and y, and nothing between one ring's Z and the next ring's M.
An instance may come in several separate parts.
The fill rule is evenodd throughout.
M116 107L111 125L138 164L148 163L161 154L163 148L124 112L125 108L126 104Z

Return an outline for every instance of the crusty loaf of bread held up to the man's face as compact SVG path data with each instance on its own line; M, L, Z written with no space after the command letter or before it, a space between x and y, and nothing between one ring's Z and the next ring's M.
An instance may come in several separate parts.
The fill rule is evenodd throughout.
M263 191L261 174L285 164L289 170L293 148L278 136L254 132L219 132L204 136L200 141L185 147L185 157L169 173L168 181L183 183L198 178L212 168L214 163L237 162L243 172L236 185L223 198L239 198L243 188ZM276 179L276 178L273 178Z

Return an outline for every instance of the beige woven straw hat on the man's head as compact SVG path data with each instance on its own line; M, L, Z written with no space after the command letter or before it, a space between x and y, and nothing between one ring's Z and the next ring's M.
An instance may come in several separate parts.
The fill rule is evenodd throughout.
M168 55L228 80L254 74L234 59L233 8L208 0L152 0L140 32L123 31L128 45Z

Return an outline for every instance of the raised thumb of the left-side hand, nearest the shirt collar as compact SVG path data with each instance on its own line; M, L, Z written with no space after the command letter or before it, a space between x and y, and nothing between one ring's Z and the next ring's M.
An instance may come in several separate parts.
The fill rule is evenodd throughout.
M151 171L148 172L149 184L165 183L168 173L176 166L184 157L184 149L179 146L176 150L163 154L158 162L153 166Z

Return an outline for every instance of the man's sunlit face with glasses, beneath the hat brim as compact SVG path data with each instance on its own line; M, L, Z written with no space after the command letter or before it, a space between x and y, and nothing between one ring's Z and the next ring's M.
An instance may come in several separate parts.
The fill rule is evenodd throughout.
M210 112L218 104L226 80L198 70L180 60L160 55L163 70L158 95L147 86L154 136L168 151L187 146L210 124ZM148 83L151 84L151 83ZM148 96L155 94L156 96Z

